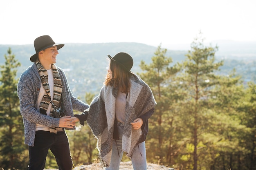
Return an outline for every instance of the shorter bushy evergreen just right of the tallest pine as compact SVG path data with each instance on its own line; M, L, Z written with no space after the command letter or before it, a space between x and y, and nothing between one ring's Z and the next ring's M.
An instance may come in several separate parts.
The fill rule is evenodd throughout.
M243 152L239 140L241 134L247 131L240 124L241 112L238 110L241 99L246 95L245 88L241 77L236 76L235 72L220 76L218 82L205 101L211 119L207 120L210 126L202 135L205 153L200 152L204 156L200 160L210 170L244 169L239 168L242 163L237 154Z

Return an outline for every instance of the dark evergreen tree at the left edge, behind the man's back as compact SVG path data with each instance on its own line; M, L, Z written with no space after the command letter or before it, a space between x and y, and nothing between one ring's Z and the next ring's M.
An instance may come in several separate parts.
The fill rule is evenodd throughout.
M20 63L11 49L4 55L5 64L0 66L0 167L3 169L24 169L28 153L24 143L24 126L19 112L16 93L18 80L15 78Z

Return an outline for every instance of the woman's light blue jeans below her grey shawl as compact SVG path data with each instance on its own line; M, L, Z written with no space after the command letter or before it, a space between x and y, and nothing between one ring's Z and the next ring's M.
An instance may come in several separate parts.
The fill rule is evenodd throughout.
M122 150L122 134L123 127L118 126L119 140L113 140L110 166L106 167L106 170L119 170L120 162L124 153L124 151ZM131 161L133 170L147 169L145 141L137 146L135 152L132 155Z

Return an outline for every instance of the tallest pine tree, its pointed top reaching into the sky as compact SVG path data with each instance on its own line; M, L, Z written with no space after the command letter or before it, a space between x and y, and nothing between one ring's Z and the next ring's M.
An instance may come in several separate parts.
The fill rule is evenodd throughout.
M209 108L205 102L211 94L211 88L218 84L219 77L214 71L218 71L223 65L223 62L215 61L218 47L204 46L203 41L200 33L200 37L192 42L191 50L182 63L183 69L178 82L184 90L185 99L180 113L183 116L184 130L190 133L184 140L187 141L188 137L191 139L187 144L187 151L193 157L193 170L198 169L198 148L204 143L201 135L209 126L206 121L209 119ZM191 157L188 158L187 161L191 161Z

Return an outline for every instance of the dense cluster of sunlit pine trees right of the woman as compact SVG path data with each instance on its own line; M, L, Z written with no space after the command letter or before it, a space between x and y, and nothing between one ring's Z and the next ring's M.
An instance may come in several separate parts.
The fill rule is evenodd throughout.
M252 169L255 131L241 122L241 115L247 115L241 105L248 96L245 87L235 71L219 74L224 62L215 60L218 47L204 46L203 41L196 38L186 59L173 67L160 46L152 63L141 62L144 72L139 75L157 101L149 120L148 161L177 169ZM245 138L240 142L245 134L251 147L245 147ZM246 158L254 161L243 163Z

